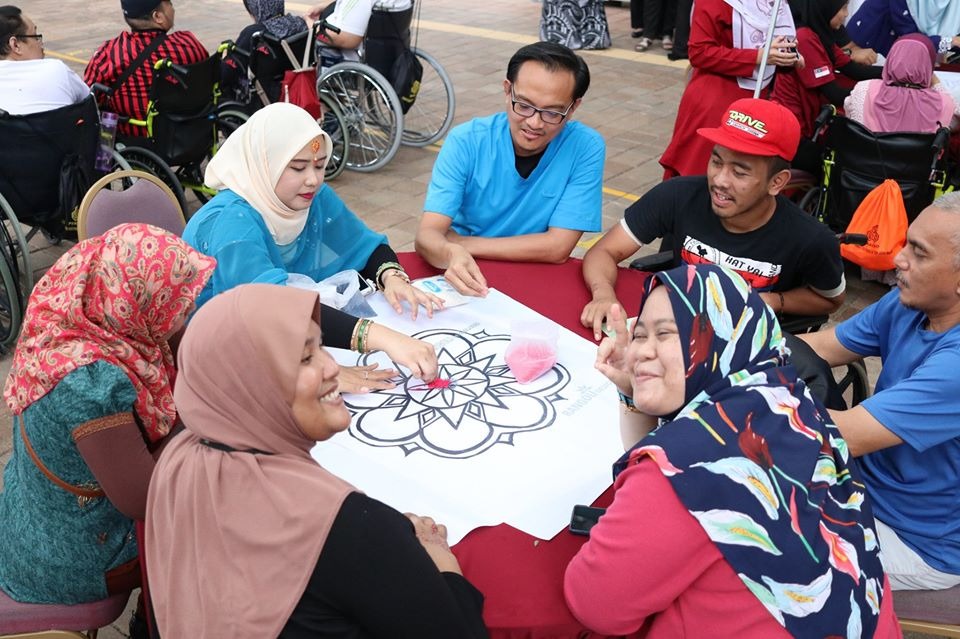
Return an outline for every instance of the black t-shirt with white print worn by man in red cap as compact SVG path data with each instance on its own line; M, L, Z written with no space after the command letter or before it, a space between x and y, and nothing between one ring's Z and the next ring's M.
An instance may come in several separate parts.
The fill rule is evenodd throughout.
M711 208L706 177L677 177L632 204L623 226L641 244L672 235L675 259L726 266L758 291L809 286L824 297L836 297L845 287L833 232L782 196L765 225L731 233Z

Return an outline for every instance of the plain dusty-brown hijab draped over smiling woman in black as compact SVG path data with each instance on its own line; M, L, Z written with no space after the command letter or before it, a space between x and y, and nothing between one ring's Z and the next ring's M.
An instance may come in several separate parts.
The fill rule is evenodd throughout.
M147 498L164 637L276 637L354 490L310 457L291 410L311 318L316 293L247 284L205 304L184 335L174 401L187 432L163 452Z

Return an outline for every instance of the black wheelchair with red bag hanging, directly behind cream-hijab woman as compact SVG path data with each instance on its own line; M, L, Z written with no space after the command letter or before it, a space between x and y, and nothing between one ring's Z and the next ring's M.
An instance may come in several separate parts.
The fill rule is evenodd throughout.
M315 49L308 46L312 39L309 36L309 31L303 31L280 39L272 33L260 31L253 34L250 51L234 48L230 59L240 70L241 81L231 97L244 105L246 113L252 115L261 107L280 100L283 77L288 71L302 71L314 66ZM337 103L327 95L318 98L323 113L317 122L333 142L333 153L327 162L324 179L333 180L347 166L349 131Z

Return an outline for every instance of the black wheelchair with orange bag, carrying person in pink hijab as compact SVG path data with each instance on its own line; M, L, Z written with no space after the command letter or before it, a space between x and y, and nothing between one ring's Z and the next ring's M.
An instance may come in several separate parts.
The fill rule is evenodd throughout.
M823 178L803 195L800 208L836 232L847 228L863 199L887 178L900 185L910 222L945 192L946 127L936 133L873 133L827 105L817 118L814 141L820 136Z

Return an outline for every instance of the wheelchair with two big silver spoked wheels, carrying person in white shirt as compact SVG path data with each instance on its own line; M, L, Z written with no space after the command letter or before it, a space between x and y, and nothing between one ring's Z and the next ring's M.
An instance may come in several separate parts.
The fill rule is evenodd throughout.
M433 144L453 124L453 83L433 56L416 42L411 46L413 14L414 7L374 10L361 46L362 61L339 62L319 74L317 93L331 98L347 121L347 168L375 171L393 159L401 143ZM329 28L326 22L320 25ZM423 75L410 91L415 99L402 102L394 88L398 80L394 65L408 50L423 67Z

